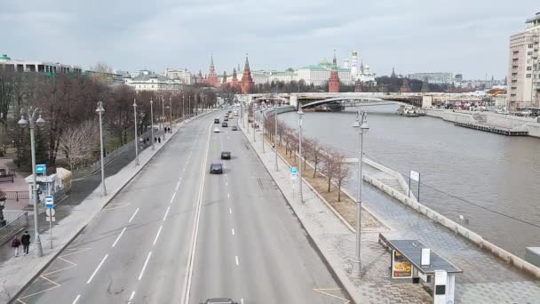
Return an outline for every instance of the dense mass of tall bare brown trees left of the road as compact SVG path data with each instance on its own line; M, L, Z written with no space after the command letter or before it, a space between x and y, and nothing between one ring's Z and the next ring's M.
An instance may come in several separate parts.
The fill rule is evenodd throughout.
M110 85L99 74L67 75L9 72L0 69L0 151L15 148L13 161L28 168L28 129L20 129L21 108L40 108L46 124L36 128L36 161L54 167L65 158L70 165L99 156L97 101L102 100L106 147L114 149L133 139L133 100L137 100L139 132L150 124L150 100L155 122L176 119L196 108L215 104L216 94L186 86L175 92L135 92L124 84ZM170 108L168 108L170 107ZM164 112L164 113L163 113ZM164 117L163 117L164 116Z

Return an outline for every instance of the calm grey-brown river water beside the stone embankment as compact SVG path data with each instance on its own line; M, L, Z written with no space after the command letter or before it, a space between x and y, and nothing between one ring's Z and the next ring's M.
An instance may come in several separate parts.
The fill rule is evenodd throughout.
M366 156L405 177L409 170L420 172L422 204L457 222L464 215L467 228L520 257L525 247L540 246L539 139L480 132L429 116L398 116L392 105L362 109L369 123ZM304 134L357 153L355 118L348 110L306 113ZM295 112L280 119L298 125ZM355 188L355 174L347 188Z

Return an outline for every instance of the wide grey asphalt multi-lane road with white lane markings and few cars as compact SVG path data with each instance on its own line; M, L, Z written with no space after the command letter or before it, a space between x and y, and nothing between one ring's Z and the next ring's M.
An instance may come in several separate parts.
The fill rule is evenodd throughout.
M213 118L187 124L18 302L344 303L242 132L213 133ZM210 175L222 150L233 159Z

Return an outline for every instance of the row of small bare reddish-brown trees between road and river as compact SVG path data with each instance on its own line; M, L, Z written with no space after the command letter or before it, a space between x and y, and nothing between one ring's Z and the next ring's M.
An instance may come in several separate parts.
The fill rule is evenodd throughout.
M274 116L269 116L265 120L266 137L279 148L284 148L285 155L293 158L305 171L308 165L311 166L313 178L317 177L317 173L324 176L328 192L334 183L338 187L338 202L341 202L341 188L347 182L350 170L345 154L317 139L302 136L302 156L299 156L298 130L278 120L276 138L274 119Z

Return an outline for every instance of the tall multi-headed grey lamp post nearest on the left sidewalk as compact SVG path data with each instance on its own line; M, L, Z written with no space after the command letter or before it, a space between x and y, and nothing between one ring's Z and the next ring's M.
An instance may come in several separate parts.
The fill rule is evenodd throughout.
M25 119L25 112L27 113L28 120ZM19 124L20 128L24 129L27 126L30 128L30 147L32 151L32 191L34 192L34 195L32 196L32 200L34 202L34 235L36 236L36 256L37 257L43 257L44 256L44 250L41 246L41 239L39 237L39 230L37 228L37 180L36 180L36 139L34 134L34 128L37 124L37 126L41 127L45 124L45 120L42 118L41 114L39 114L38 118L36 119L37 113L40 113L39 108L28 108L28 111L25 108L22 108L20 110L20 121L17 123Z

